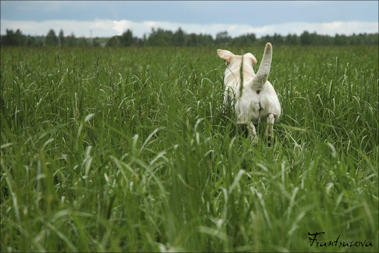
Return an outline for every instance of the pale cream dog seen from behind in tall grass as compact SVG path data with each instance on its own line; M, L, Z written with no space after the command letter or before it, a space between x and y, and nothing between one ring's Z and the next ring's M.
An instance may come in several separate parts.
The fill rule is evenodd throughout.
M257 142L254 123L267 119L267 139L271 144L273 123L280 116L280 103L271 83L267 81L270 73L272 46L266 44L262 62L257 74L253 65L257 63L254 55L234 55L227 50L217 50L218 56L226 61L224 105L232 106L236 123L248 126L253 143Z

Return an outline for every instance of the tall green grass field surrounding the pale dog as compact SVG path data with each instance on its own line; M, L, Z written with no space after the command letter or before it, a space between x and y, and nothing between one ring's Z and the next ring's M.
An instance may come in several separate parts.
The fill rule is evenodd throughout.
M377 46L273 45L271 147L216 49L2 48L1 251L377 252Z

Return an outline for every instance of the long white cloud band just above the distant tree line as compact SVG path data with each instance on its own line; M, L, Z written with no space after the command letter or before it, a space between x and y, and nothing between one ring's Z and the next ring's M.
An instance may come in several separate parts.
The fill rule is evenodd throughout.
M330 22L330 23L306 23L306 22L289 22L275 25L265 25L255 27L247 24L187 24L172 23L160 21L143 21L133 22L129 20L109 20L96 19L94 21L75 21L75 20L49 20L49 21L12 21L1 19L0 32L6 33L6 29L20 29L23 34L30 35L46 35L50 29L54 29L56 33L62 29L65 35L71 34L75 36L90 36L90 30L93 37L111 37L121 35L127 29L132 30L133 35L142 37L145 33L149 34L152 28L162 28L164 30L176 31L179 27L186 33L203 33L210 34L213 37L220 31L227 31L232 37L240 36L246 33L255 33L257 37L264 35L273 35L274 33L283 36L291 33L300 35L307 30L308 32L316 32L317 34L326 34L334 36L338 34L351 35L353 33L375 33L378 32L379 26L377 22Z

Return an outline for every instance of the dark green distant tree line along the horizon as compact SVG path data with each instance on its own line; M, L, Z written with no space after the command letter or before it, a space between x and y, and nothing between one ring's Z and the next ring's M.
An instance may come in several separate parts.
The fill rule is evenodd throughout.
M110 38L85 38L75 37L73 33L65 36L61 29L58 36L51 29L45 36L24 35L18 29L6 30L5 35L1 35L1 46L60 46L60 47L128 47L128 46L212 46L212 45L230 45L230 46L252 46L265 45L270 41L276 46L348 46L348 45L379 45L378 33L359 33L350 36L339 35L328 36L309 33L304 31L300 36L296 34L288 34L282 36L280 34L266 35L257 38L254 33L248 33L238 37L231 37L227 31L221 31L216 34L216 38L207 34L185 33L180 27L172 32L162 28L153 28L151 33L146 34L142 38L133 36L131 30L125 31L122 35L116 35Z

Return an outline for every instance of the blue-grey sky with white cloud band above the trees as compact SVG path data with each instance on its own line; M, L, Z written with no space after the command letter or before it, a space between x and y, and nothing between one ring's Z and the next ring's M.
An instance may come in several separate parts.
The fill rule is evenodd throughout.
M335 36L379 30L379 1L1 1L0 33L111 37L152 28L232 37L300 35L305 30Z

